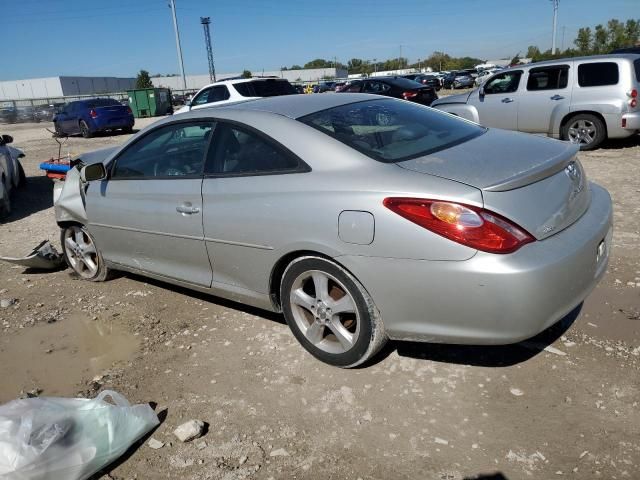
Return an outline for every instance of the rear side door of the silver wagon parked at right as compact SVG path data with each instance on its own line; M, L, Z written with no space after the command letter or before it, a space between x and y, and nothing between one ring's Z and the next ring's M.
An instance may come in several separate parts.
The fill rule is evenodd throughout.
M518 101L518 130L553 133L552 126L569 113L573 74L569 63L529 69Z

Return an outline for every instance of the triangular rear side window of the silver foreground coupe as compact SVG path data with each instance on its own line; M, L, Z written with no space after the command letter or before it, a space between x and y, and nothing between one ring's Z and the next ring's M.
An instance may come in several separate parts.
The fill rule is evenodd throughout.
M213 171L224 174L296 170L298 160L255 132L220 125L215 136Z

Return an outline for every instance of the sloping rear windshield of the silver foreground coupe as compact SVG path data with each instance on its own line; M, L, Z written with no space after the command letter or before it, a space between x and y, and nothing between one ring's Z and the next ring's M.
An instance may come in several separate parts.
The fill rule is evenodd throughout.
M486 131L452 115L392 99L341 105L299 120L385 163L428 155Z

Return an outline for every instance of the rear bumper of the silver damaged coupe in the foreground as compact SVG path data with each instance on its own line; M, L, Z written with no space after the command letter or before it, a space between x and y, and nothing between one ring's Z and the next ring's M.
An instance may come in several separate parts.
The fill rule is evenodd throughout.
M591 185L587 212L571 227L509 255L466 261L339 257L362 282L398 340L477 345L530 338L571 312L606 271L611 198ZM597 261L600 243L605 252Z

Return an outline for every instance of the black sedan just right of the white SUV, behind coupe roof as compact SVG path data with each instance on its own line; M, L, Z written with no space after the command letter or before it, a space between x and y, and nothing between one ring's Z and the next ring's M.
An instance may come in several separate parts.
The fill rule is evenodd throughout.
M402 77L374 77L354 80L340 93L373 93L431 105L438 98L435 89Z

